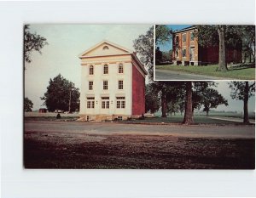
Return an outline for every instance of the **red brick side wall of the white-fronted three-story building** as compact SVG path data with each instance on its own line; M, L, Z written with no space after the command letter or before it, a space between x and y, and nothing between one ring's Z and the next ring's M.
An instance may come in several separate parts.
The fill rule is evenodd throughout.
M145 113L145 78L132 65L132 116Z

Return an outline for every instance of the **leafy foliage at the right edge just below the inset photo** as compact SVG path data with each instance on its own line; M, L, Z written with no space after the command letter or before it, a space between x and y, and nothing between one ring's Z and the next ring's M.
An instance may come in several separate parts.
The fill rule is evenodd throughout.
M247 94L248 98L252 97L255 93L255 82L248 82L248 84L248 93L246 93L246 82L230 82L231 98L244 100L245 94Z

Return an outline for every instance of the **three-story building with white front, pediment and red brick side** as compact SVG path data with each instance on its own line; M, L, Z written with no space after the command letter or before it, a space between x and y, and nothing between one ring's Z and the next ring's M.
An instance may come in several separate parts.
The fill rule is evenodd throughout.
M102 41L80 54L80 116L125 120L145 113L147 71L131 50Z

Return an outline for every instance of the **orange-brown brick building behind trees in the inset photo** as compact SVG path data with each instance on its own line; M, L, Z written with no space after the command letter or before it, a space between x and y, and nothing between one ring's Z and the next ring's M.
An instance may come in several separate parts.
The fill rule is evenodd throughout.
M195 26L190 26L172 35L172 59L175 65L218 64L218 46L202 47L195 37ZM226 46L227 63L241 62L241 45Z

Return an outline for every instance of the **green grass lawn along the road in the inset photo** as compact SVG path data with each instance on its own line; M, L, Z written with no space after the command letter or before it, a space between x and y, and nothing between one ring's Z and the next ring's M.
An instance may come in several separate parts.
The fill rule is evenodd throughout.
M200 65L200 66L183 66L183 65L155 65L156 70L180 71L183 73L193 73L206 76L224 77L229 79L254 80L255 66L241 65L229 68L229 71L217 71L218 65Z

